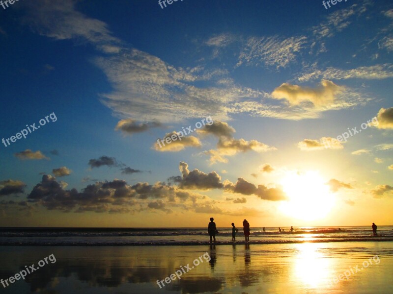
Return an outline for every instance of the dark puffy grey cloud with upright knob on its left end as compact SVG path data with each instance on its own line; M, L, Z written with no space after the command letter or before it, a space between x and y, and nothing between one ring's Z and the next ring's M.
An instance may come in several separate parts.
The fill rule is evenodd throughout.
M224 187L217 172L204 173L197 169L190 172L188 164L183 161L179 164L179 170L182 174L181 182L179 182L181 189L210 190Z

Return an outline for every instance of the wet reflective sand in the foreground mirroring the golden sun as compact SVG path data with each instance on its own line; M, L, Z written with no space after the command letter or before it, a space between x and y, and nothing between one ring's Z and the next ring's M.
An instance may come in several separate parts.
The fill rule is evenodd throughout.
M1 293L393 293L393 242L0 246L0 278L50 254Z

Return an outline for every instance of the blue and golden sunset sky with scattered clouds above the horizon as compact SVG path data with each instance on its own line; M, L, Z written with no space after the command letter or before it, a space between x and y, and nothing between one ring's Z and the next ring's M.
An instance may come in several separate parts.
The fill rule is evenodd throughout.
M393 223L392 1L166 5L0 6L1 226Z

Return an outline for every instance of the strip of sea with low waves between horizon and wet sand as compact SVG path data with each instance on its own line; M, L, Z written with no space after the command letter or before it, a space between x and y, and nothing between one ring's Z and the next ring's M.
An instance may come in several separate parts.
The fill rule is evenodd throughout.
M281 228L282 229L282 228ZM373 236L371 226L313 226L278 231L278 227L252 227L250 244L296 244L328 242L393 241L393 226L378 226ZM218 228L217 245L232 245L232 228ZM0 245L206 245L207 228L61 228L1 227ZM236 243L244 244L242 228Z

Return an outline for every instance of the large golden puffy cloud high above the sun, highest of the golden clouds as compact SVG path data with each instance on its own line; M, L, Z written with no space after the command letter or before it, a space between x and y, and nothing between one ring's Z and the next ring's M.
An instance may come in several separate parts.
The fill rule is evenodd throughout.
M337 86L329 80L322 80L321 85L316 88L302 87L283 83L276 88L272 97L285 99L290 105L299 105L302 102L311 102L314 106L325 106L332 104L338 94L344 91L344 87Z

